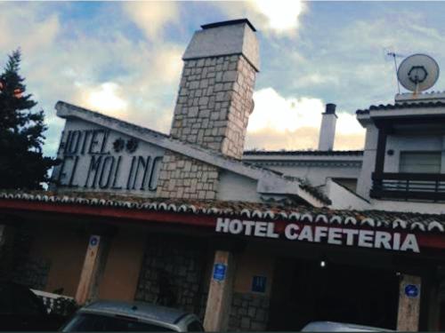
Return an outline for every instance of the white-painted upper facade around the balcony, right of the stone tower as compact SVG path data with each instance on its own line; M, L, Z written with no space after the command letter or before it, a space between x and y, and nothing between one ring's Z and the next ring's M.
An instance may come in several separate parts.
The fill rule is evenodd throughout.
M327 194L331 200L331 208L344 210L388 210L422 213L443 213L442 202L425 200L372 199L372 174L376 169L376 151L379 129L374 119L390 119L398 117L402 121L410 117L445 115L443 107L398 107L403 103L444 101L443 93L426 93L413 96L398 95L394 107L387 110L370 109L368 115L358 113L357 119L366 129L365 147L362 155L344 155L342 152L248 152L244 160L263 167L283 172L286 175L303 178ZM320 139L323 137L320 128ZM320 141L321 142L321 141ZM325 150L325 149L323 149ZM267 153L267 154L266 154ZM445 173L445 125L438 118L437 123L409 123L395 125L388 134L385 145L384 172L401 172L401 155L413 153L433 153L441 155L441 173ZM343 155L342 155L343 154ZM355 194L351 188L345 189L338 184L340 179L355 179Z

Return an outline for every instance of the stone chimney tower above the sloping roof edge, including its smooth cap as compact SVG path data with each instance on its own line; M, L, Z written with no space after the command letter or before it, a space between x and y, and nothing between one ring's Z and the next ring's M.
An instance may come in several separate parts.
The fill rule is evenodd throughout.
M184 67L170 134L240 159L259 71L255 28L248 20L201 28L182 57Z

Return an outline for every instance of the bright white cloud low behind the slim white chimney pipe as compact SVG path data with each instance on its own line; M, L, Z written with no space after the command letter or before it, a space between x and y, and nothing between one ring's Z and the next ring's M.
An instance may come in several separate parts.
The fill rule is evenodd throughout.
M247 127L247 148L316 149L325 103L314 98L284 98L273 88L255 91ZM364 129L354 115L337 112L336 149L360 149Z

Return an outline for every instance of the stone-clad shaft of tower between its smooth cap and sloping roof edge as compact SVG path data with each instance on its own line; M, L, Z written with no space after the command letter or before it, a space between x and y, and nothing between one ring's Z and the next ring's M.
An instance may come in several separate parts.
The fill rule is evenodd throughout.
M240 159L254 86L255 69L242 55L184 61L170 134Z

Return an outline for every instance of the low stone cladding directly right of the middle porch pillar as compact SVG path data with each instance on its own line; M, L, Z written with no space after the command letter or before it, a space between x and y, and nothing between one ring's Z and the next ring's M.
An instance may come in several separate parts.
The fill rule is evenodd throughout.
M262 331L267 329L269 297L256 294L233 293L229 330Z

